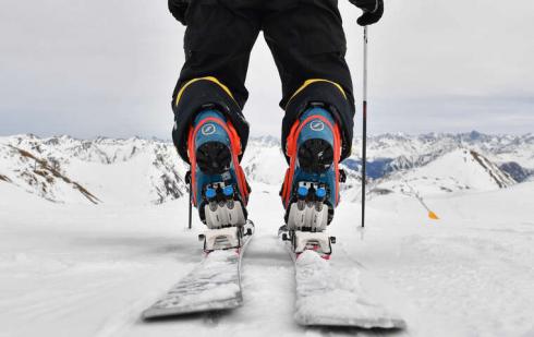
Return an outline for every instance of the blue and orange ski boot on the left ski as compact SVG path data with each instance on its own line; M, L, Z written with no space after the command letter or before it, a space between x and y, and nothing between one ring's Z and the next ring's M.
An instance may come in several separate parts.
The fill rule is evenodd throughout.
M246 204L250 186L239 163L241 142L224 116L215 109L199 112L190 130L192 204L208 230L199 236L204 250L241 248L252 234Z

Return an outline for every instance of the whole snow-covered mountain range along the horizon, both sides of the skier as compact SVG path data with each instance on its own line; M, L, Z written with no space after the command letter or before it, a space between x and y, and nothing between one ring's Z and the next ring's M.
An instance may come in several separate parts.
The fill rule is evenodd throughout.
M361 140L343 161L349 198L359 195ZM254 182L280 185L280 142L250 140L243 168ZM61 203L160 204L184 196L187 165L170 142L132 137L0 137L0 183ZM531 179L534 135L384 134L368 139L368 177L380 194L487 191ZM384 192L384 193L383 193Z

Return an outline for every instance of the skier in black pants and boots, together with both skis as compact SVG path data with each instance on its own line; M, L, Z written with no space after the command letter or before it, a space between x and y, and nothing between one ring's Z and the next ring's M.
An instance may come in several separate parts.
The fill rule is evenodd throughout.
M384 13L383 0L350 1L364 11L360 25L373 24ZM199 237L206 253L202 262L146 309L144 320L243 304L240 266L254 225L247 220L251 189L240 166L248 136L242 109L250 53L263 31L282 81L282 146L289 168L280 191L286 225L279 237L294 261L294 317L315 327L405 326L388 308L367 299L357 285L364 269L347 282L323 281L331 277L326 260L335 238L325 229L339 203L338 164L351 153L355 110L337 2L169 0L171 13L187 26L185 64L172 97L172 139L191 165L191 201L208 230ZM327 311L317 310L318 299L328 299Z

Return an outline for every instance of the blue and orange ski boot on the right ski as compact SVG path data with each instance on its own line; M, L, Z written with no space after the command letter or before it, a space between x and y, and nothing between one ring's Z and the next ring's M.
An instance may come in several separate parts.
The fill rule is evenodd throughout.
M280 195L286 208L283 240L296 254L312 249L325 258L336 238L326 233L339 203L341 152L339 127L323 105L312 105L291 128L287 154L290 167Z

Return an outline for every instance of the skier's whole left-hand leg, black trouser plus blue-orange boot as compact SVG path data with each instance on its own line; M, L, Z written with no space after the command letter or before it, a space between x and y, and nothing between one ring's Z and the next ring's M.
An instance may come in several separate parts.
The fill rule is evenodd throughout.
M172 139L191 165L193 204L209 228L246 219L250 188L240 166L248 124L241 109L248 56L259 32L253 13L192 1L185 64L173 94Z

